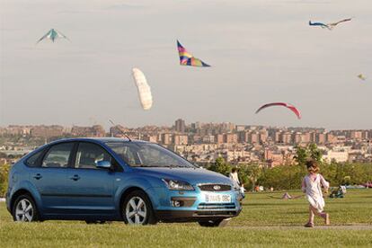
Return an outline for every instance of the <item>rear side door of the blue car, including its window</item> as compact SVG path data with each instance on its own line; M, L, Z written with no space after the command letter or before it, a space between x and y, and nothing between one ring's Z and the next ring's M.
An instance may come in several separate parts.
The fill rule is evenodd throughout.
M73 142L50 146L40 159L39 166L31 170L30 181L40 193L45 215L58 215L68 208L66 169L71 164L73 147Z

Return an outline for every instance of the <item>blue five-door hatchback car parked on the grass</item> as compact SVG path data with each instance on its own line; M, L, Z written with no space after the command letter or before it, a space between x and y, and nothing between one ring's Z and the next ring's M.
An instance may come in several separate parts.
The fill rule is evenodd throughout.
M13 165L6 206L14 221L218 226L239 215L240 199L229 178L163 146L122 138L70 138L41 146Z

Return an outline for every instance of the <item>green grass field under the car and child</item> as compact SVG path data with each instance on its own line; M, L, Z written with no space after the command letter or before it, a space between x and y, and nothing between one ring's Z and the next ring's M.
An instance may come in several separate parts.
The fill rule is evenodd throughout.
M249 193L244 210L228 226L197 224L125 226L120 222L86 225L78 221L14 223L0 204L1 247L70 246L371 246L372 190L349 190L345 199L326 199L332 226L306 229L307 203L278 199L283 192ZM290 192L300 195L300 192Z

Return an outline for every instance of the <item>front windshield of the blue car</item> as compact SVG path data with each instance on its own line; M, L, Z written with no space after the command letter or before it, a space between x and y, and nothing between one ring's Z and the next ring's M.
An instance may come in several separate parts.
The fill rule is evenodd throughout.
M110 142L106 145L133 167L195 167L181 156L153 143Z

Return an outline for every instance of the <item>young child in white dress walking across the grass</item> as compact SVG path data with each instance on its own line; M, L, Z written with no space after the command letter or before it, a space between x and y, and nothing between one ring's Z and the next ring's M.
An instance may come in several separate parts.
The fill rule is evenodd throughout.
M306 199L309 202L309 221L306 227L314 226L314 215L323 217L325 225L330 225L330 217L323 211L324 199L322 186L325 191L328 190L330 183L326 182L323 176L318 173L319 166L314 161L306 162L307 171L309 172L302 181L302 191L306 193Z

